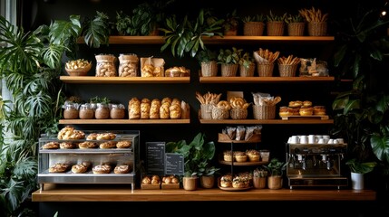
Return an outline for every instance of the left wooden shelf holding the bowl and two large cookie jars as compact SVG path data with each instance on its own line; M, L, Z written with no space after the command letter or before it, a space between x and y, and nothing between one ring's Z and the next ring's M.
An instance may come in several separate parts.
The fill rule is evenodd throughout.
M115 83L190 83L190 77L95 77L95 76L60 76L64 83L115 84Z

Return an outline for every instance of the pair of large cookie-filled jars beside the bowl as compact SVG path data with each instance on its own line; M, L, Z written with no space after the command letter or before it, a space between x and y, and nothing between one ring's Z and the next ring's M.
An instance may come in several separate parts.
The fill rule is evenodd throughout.
M96 77L136 77L139 59L134 53L119 55L119 70L116 71L116 57L112 54L99 54L96 58ZM119 72L119 73L118 73Z

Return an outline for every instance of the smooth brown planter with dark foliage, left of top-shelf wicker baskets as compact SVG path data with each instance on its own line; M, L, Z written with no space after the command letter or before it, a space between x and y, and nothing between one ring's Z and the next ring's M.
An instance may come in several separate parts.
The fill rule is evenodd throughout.
M248 15L243 18L242 22L243 35L262 36L265 30L266 16L264 14Z

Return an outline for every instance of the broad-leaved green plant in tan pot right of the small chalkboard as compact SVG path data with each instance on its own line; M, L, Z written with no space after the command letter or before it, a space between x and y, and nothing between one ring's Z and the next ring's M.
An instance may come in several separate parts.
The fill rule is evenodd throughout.
M215 144L212 141L205 142L205 134L197 134L188 144L185 140L168 142L166 152L178 153L184 156L184 175L182 184L185 190L196 190L199 175L205 175L208 167L209 175L216 172L209 162L215 155ZM206 164L207 163L207 164Z

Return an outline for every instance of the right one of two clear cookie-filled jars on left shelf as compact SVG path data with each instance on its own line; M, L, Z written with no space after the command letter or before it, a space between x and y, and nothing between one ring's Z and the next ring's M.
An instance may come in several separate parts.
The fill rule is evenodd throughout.
M119 55L119 77L136 77L139 58L134 53Z

